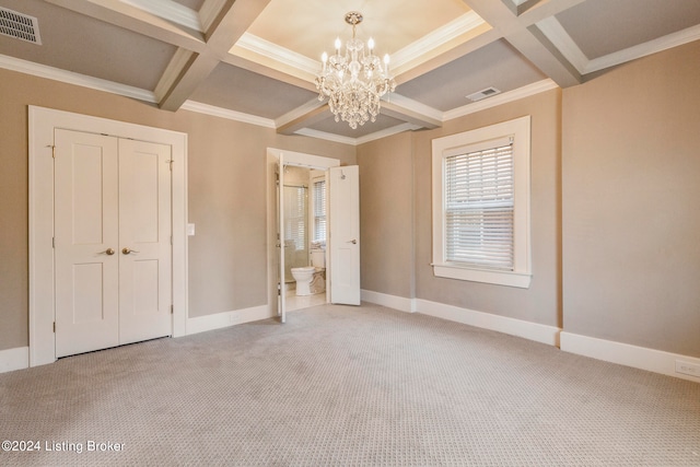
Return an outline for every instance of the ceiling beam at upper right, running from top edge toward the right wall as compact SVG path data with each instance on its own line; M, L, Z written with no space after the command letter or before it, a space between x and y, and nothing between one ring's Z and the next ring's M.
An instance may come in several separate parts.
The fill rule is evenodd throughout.
M521 20L503 1L463 0L487 23L499 31L503 38L515 47L535 67L561 87L581 84L581 74L563 55L539 32L536 25ZM576 0L549 0L551 7ZM544 8L544 7L541 7Z

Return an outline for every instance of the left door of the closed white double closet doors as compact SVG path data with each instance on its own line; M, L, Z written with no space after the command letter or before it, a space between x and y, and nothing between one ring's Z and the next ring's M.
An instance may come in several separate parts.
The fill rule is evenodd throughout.
M119 343L119 157L114 137L57 129L55 145L58 358Z

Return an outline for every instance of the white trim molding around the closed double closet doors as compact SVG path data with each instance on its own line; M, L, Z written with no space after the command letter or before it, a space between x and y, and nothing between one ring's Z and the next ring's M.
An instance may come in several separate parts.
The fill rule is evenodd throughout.
M56 361L54 290L54 129L112 135L172 147L173 337L187 324L187 133L63 110L28 107L30 366Z

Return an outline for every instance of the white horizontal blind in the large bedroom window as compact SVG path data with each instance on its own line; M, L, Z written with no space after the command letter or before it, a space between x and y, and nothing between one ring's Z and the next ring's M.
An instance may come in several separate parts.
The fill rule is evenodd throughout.
M451 155L445 164L445 259L514 268L513 144Z

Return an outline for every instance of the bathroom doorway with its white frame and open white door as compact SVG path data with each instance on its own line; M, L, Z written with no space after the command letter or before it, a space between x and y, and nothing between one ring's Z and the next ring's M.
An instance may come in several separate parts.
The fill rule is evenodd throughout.
M268 148L267 172L270 311L359 305L359 167Z

